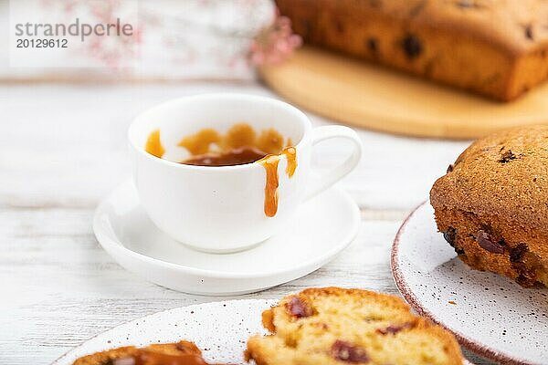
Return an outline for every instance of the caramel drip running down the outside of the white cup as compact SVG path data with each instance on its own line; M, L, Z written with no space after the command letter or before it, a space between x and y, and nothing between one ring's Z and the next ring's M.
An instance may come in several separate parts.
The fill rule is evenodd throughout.
M288 165L286 173L289 178L293 176L297 169L297 150L295 147L286 147L280 154L269 154L258 161L267 172L267 183L265 183L265 214L273 217L278 212L278 164L280 156L286 156Z

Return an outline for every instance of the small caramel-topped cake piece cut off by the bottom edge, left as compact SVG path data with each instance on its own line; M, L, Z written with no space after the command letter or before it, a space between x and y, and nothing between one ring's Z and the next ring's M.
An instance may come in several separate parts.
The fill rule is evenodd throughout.
M141 349L133 346L109 349L79 358L73 365L160 364L207 365L202 358L202 351L189 341L153 344Z

